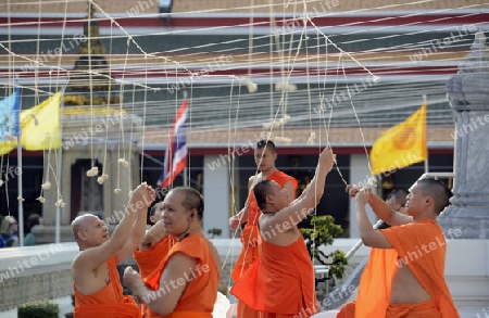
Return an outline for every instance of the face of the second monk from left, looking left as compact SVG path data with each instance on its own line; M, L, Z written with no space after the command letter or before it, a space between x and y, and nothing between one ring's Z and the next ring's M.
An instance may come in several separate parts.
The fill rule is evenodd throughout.
M190 211L181 205L185 196L184 191L171 191L163 201L162 218L168 234L179 236L190 228Z

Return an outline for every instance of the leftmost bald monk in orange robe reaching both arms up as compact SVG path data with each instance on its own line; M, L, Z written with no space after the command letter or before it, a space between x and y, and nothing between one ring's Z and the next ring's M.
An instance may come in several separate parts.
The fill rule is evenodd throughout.
M131 194L112 238L95 215L78 216L72 230L80 252L72 263L76 318L140 317L131 297L123 296L117 264L137 249L146 231L148 207L155 198L146 183Z

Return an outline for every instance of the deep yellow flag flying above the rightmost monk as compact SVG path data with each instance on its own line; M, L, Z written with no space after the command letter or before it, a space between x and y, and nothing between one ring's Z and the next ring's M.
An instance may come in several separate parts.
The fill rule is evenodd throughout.
M426 104L403 123L385 131L372 147L372 174L393 171L426 160Z

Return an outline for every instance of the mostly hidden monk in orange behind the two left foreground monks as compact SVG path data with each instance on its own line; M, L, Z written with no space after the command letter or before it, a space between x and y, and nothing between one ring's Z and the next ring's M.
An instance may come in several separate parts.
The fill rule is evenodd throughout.
M167 256L170 249L175 244L175 238L168 236L164 230L164 222L161 220L163 214L163 202L154 204L150 212L151 222L154 226L149 229L133 257L138 264L141 279L146 280L160 265L161 260ZM142 318L150 316L150 309L145 303L140 304Z

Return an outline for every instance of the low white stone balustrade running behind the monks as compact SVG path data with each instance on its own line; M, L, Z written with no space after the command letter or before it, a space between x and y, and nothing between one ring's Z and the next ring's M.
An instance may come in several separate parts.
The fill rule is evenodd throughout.
M223 264L220 291L226 294L241 243L238 239L212 241ZM347 253L355 243L355 239L337 239L324 252L340 250ZM489 307L489 241L448 240L447 244L446 278L457 308L476 314ZM0 250L0 316L1 311L28 301L71 295L70 265L77 253L78 246L74 242ZM366 246L359 249L350 258L346 276L368 253ZM461 259L464 260L462 266ZM133 265L134 260L129 257L124 264Z

